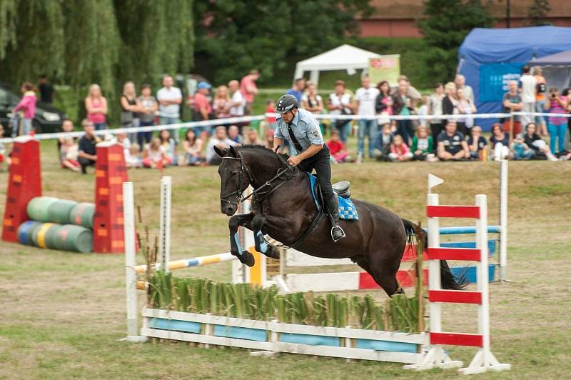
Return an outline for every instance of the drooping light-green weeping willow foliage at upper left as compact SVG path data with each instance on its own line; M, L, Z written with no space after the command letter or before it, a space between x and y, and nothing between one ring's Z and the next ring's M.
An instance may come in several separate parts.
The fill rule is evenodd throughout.
M192 11L192 0L1 0L0 80L19 88L48 74L81 98L97 83L118 104L125 81L190 72Z

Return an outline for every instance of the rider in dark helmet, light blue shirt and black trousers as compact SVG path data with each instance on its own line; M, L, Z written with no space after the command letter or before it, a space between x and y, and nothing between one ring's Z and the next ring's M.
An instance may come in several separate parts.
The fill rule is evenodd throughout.
M273 151L278 151L284 140L295 149L297 156L291 156L288 164L298 166L309 173L315 169L319 186L323 194L325 206L331 221L331 238L338 241L345 237L345 232L339 226L338 205L331 188L331 163L329 149L323 142L319 123L315 116L305 109L298 109L295 96L286 94L276 103L276 133L273 135Z

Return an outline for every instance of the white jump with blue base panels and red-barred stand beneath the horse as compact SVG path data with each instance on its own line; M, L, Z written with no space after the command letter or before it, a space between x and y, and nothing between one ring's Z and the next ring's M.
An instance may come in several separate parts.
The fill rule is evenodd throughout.
M460 369L462 374L475 374L489 369L510 369L509 364L500 364L490 351L490 316L488 289L488 241L487 203L485 195L476 196L476 206L438 206L438 195L428 198L428 300L430 332L408 334L398 331L375 331L365 329L307 326L285 324L276 320L257 321L211 314L188 313L144 307L141 313L143 324L138 329L136 289L137 274L146 271L146 266L135 264L135 223L133 184L123 184L123 210L125 213L124 235L126 236L126 293L127 336L126 341L143 342L148 338L188 341L199 344L233 346L257 349L255 356L268 356L277 352L330 356L345 359L391 361L407 364L405 369L455 368L462 361L453 361L443 345L477 346L477 354L470 365ZM470 217L476 220L476 247L457 248L440 246L440 217ZM232 255L219 254L195 259L196 261L171 261L171 270L211 262L236 261ZM216 259L215 259L216 258ZM478 261L477 291L442 290L440 285L440 259ZM163 264L155 264L160 269ZM165 266L165 267L166 267ZM442 331L440 304L443 302L477 304L478 334L458 334Z

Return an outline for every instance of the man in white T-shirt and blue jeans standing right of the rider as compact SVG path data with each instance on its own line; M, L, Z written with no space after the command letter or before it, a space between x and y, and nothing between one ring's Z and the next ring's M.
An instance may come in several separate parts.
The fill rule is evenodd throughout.
M360 162L363 159L363 152L365 151L365 135L369 138L369 157L375 156L374 141L377 134L377 120L375 119L375 101L379 94L379 90L370 86L370 79L368 76L363 76L361 79L360 89L355 91L355 101L357 102L358 116L371 116L370 119L359 119L359 142L358 142L358 159Z

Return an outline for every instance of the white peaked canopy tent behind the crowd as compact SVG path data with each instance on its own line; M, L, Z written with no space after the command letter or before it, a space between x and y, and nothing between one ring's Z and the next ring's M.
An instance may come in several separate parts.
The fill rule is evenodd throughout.
M357 70L366 70L370 58L378 58L380 54L343 44L330 51L299 61L295 65L295 78L301 78L304 71L310 71L310 79L319 82L319 71L347 70L349 75Z

